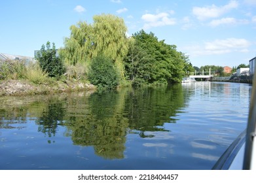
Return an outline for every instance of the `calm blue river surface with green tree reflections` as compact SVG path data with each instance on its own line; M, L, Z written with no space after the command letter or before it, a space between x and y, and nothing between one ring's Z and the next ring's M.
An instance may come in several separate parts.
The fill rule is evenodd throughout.
M246 128L251 86L196 82L0 98L0 169L211 169Z

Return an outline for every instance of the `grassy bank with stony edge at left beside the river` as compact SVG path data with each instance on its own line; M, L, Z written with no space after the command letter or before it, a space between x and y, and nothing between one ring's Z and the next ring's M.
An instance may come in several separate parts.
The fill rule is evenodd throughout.
M36 95L47 93L96 90L86 80L75 80L65 76L57 80L43 72L38 63L23 61L0 62L0 96Z

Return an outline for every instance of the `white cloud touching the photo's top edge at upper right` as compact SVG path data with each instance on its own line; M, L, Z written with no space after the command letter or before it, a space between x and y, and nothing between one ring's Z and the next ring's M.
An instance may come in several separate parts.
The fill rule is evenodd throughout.
M229 4L222 7L217 7L215 5L208 7L193 7L192 13L198 18L198 20L206 20L208 18L217 18L237 7L237 1L230 1Z

